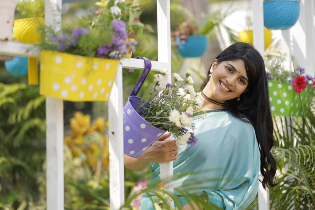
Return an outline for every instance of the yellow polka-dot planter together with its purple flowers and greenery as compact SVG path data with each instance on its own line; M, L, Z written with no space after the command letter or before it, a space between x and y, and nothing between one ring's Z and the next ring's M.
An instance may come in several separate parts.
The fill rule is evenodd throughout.
M38 45L40 93L71 101L107 101L116 76L119 59L128 54L135 41L128 38L125 22L110 20L109 10L88 17L80 28L54 32L45 27ZM92 22L92 24L90 24Z

